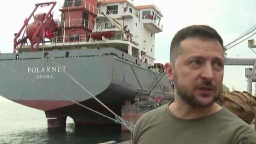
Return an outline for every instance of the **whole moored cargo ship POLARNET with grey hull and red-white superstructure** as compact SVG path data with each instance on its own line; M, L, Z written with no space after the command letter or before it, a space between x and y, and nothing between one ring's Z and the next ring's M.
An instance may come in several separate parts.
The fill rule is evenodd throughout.
M155 107L173 99L164 65L154 63L155 34L163 31L158 7L65 0L55 20L55 6L35 4L14 34L13 53L0 54L1 96L44 111L48 129L65 129L67 116L76 127L116 125L81 105L115 118L108 107L136 122L147 110L125 113L125 105L150 99L147 106ZM39 7L48 9L37 13Z

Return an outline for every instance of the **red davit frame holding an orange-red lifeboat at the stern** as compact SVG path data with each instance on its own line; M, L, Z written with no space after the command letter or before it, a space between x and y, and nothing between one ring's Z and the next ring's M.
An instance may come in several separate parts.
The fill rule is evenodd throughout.
M48 11L48 13L40 13L37 15L34 15L35 11L39 6L50 6L52 4L52 7ZM25 19L24 24L20 31L18 33L15 33L14 38L14 47L13 52L16 53L17 46L19 47L19 51L21 51L22 46L27 43L27 39L30 40L30 51L35 52L37 51L37 48L40 43L44 41L44 38L51 39L54 35L53 32L58 29L58 25L53 20L53 15L51 14L54 6L56 5L56 2L47 2L47 3L38 3L35 4L35 8L30 14L28 18ZM34 22L31 24L28 24L31 17L34 17ZM23 31L25 29L25 31ZM18 39L23 32L22 38ZM25 36L26 33L26 36ZM18 40L17 40L18 39Z

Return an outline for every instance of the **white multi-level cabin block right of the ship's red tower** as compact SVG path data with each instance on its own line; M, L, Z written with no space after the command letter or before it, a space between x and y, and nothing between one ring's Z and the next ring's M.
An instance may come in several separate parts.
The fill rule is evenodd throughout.
M127 25L132 34L132 44L127 47L121 42L116 48L154 65L155 33L163 31L160 25L163 15L155 5L134 6L130 0L98 0L97 25L101 25L102 31L115 30L118 37L122 31L101 13L116 19L122 27Z

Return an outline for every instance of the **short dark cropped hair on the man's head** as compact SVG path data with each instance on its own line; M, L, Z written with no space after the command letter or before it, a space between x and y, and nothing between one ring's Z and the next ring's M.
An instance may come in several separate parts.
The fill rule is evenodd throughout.
M220 42L224 51L223 40L215 29L207 25L192 25L179 30L172 39L170 48L170 62L174 62L177 58L180 42L189 37L216 39Z

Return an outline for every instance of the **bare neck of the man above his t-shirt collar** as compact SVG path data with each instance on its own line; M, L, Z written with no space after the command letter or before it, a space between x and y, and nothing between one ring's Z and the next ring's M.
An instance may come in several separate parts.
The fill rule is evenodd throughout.
M214 103L209 107L195 108L184 104L183 102L174 101L169 105L169 109L174 114L174 116L178 118L195 119L216 113L221 110L222 107L219 106L217 103Z

